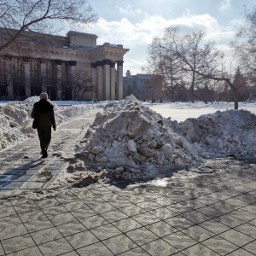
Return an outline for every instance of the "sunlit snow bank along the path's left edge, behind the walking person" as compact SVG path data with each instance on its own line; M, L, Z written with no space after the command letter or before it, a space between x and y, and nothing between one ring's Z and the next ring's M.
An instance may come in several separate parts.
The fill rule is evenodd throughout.
M9 148L24 141L28 137L34 137L36 130L32 129L31 112L39 96L32 96L23 102L8 102L0 105L0 150ZM64 122L88 113L90 109L97 108L95 104L81 104L74 106L59 107L55 103L55 120L59 126Z

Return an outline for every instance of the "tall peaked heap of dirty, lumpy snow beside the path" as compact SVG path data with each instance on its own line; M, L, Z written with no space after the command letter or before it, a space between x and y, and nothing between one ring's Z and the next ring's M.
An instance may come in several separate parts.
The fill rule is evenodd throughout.
M160 166L175 168L199 163L201 157L195 148L164 122L160 114L134 96L110 102L103 114L96 114L76 156L85 156L97 166L112 169L122 177L127 171L141 176L142 170L149 174Z

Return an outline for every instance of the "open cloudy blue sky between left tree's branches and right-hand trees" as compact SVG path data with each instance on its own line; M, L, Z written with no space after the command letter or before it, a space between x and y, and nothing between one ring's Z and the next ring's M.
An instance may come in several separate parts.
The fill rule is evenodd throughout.
M98 36L97 44L123 44L130 49L124 57L124 73L142 73L147 47L161 36L165 27L179 26L183 32L207 32L221 49L227 50L234 39L234 26L244 13L253 9L255 0L89 0L100 17L83 32ZM80 30L81 31L81 30Z

